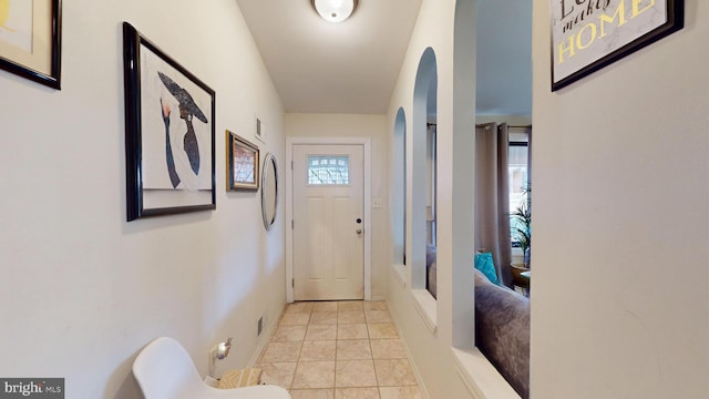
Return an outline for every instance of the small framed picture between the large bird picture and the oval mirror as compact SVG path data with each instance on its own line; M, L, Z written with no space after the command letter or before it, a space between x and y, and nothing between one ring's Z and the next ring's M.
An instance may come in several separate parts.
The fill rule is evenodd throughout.
M258 190L258 147L226 131L226 190Z

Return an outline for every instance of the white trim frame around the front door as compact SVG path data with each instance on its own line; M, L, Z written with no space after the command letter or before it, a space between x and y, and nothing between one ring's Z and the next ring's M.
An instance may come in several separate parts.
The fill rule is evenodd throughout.
M364 150L363 160L363 206L364 206L364 300L372 299L372 151L371 137L286 137L286 301L294 301L294 270L292 270L292 150L294 145L362 145ZM288 228L288 221L290 228Z

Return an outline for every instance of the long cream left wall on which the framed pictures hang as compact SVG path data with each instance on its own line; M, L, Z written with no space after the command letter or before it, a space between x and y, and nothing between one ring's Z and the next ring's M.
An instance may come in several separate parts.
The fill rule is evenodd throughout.
M216 91L214 212L125 222L123 21ZM284 158L284 112L236 2L64 1L62 50L61 91L0 71L0 375L137 398L157 336L203 375L229 336L222 369L247 365L285 303L284 223L267 234L257 193L225 193L224 131L255 141L258 114Z

